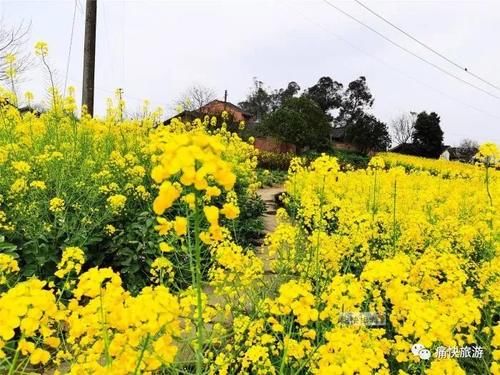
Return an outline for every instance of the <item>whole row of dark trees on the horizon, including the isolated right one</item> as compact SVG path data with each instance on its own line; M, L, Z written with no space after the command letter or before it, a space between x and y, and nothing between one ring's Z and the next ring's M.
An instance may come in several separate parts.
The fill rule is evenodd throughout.
M273 136L299 150L327 149L330 132L337 128L344 142L363 153L387 150L391 144L412 155L436 158L443 152L444 134L437 113L401 115L391 124L391 137L389 127L370 113L374 101L363 76L347 86L325 76L303 90L295 81L273 90L255 78L251 92L239 105L256 117L255 135Z

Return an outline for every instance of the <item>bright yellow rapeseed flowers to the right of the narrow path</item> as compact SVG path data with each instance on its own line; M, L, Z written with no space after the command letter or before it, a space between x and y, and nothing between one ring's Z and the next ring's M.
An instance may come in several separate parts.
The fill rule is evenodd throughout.
M497 152L481 150L482 158ZM380 154L366 170L345 172L335 163L328 156L309 166L292 162L286 212L266 240L274 272L297 278L281 284L277 300L304 293L304 285L312 293L305 311L316 312L303 322L318 314L323 341L311 351L311 371L404 374L420 363L425 373L494 373L491 351L484 354L490 362L460 363L435 356L424 363L411 352L415 343L431 352L493 347L500 176L491 159L485 168ZM265 305L280 332L288 332L283 312L303 311L294 303ZM353 325L346 313L365 320Z

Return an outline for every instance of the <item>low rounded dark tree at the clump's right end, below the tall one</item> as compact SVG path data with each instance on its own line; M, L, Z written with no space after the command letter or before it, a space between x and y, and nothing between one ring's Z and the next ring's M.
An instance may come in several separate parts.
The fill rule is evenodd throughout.
M363 153L385 151L391 144L387 125L369 114L363 114L346 129L345 139Z

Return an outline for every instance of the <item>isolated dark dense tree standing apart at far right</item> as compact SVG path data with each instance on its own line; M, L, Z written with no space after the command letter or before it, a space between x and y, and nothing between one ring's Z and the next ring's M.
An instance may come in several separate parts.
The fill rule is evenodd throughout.
M443 150L443 131L435 112L420 112L413 130L413 143L420 156L437 158Z

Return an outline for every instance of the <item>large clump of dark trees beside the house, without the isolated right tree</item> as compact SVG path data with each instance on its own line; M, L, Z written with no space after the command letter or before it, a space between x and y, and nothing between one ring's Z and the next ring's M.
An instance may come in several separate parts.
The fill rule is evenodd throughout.
M297 82L270 90L262 81L254 87L240 107L256 116L258 135L274 136L299 149L323 150L329 147L332 128L344 131L344 140L362 152L385 150L391 144L387 125L368 111L374 102L365 77L346 87L331 77L301 91Z

